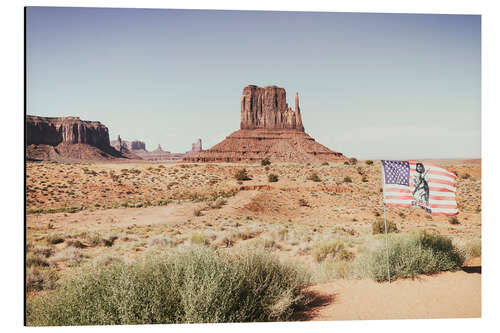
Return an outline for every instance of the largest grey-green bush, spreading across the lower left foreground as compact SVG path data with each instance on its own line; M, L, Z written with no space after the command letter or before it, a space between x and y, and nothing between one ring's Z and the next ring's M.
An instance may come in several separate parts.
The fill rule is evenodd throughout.
M208 248L82 271L28 300L30 326L279 321L307 301L309 276L263 252Z

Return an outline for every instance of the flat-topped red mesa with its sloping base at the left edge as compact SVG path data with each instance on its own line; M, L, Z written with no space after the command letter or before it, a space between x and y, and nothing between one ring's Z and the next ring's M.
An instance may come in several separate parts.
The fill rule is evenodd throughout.
M26 116L28 160L106 160L125 158L110 145L108 128L78 117Z

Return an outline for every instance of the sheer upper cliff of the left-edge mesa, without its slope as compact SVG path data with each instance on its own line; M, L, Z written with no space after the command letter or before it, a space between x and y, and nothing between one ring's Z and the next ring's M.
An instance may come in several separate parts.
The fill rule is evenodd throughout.
M109 148L108 128L98 121L78 117L26 116L26 144L57 146L60 143L88 144Z

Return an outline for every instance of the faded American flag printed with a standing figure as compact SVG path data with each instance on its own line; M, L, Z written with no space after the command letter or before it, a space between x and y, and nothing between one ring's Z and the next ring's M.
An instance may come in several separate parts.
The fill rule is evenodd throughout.
M432 215L458 214L456 175L430 163L382 161L387 206L420 207Z

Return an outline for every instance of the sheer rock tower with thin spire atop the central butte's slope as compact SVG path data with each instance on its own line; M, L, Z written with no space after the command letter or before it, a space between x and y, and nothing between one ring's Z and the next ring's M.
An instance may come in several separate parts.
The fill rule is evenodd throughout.
M298 93L295 110L286 102L286 91L276 86L243 88L240 129L294 129L303 132Z

